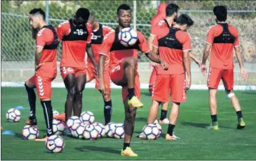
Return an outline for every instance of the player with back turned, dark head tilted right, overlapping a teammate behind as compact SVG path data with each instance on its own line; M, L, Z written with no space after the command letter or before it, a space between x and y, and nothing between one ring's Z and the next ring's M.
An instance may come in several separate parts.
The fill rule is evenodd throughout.
M168 15L168 14L166 14ZM160 102L168 102L171 95L172 110L169 116L166 140L177 140L173 129L179 116L179 106L187 99L186 90L191 86L190 57L191 39L186 30L194 22L186 14L177 18L176 24L170 28L162 28L153 41L153 51L159 50L159 55L168 64L168 70L156 66L158 77L153 88L152 104L147 123L156 120Z

